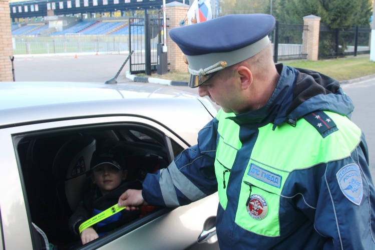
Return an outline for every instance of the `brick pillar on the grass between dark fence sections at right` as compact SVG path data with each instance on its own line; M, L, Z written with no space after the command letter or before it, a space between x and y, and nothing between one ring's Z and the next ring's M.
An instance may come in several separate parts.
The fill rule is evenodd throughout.
M319 52L320 17L316 15L304 16L303 24L308 26L308 30L303 30L302 52L307 54L308 60L316 61Z

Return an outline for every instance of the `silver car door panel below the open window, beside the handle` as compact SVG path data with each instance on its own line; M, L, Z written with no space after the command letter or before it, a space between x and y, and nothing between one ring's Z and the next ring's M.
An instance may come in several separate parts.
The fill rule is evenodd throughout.
M210 195L193 204L178 207L99 249L188 249L192 247L191 242L197 239L196 235L201 233L206 218L216 216L212 205L218 202L217 195ZM187 234L187 231L192 233ZM132 238L144 240L137 242L132 241ZM217 246L216 240L217 238L198 245L201 245L202 249L209 249L211 245Z

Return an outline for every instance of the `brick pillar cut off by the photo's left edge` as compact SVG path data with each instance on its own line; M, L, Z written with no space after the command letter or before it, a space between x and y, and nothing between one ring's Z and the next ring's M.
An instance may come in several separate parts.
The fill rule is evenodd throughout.
M0 81L13 81L13 43L9 0L0 0Z

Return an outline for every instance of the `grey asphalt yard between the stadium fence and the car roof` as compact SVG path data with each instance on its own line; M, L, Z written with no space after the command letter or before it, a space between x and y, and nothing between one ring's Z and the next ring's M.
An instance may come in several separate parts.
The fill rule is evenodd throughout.
M86 81L105 82L119 71L127 54L64 54L47 56L15 56L16 81ZM130 81L125 77L127 62L118 81Z

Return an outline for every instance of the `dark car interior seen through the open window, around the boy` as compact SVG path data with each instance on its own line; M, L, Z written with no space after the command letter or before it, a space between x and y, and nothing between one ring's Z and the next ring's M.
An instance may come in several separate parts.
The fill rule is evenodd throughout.
M143 124L107 124L17 135L15 144L34 249L44 249L46 244L73 249L80 241L69 230L68 220L83 196L95 189L90 160L96 148L110 145L119 149L128 170L126 181L142 182L147 173L167 167L183 150L174 141L167 143L166 138ZM158 209L161 208L142 207L137 220Z

